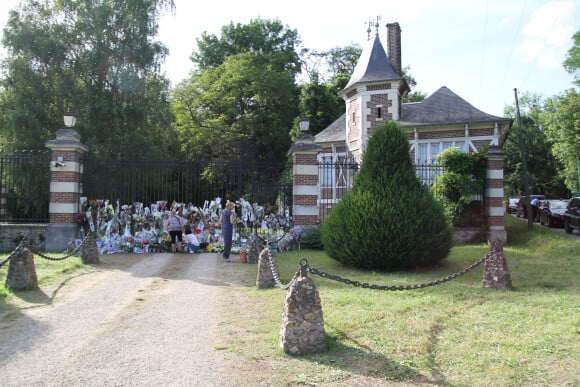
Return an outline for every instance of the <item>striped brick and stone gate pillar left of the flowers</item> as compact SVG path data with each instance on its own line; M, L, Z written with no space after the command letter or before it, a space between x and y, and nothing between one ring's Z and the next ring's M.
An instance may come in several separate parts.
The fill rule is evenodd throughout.
M74 129L60 129L56 139L45 146L52 151L50 161L50 224L46 233L46 250L66 249L79 237L76 216L80 211L81 157L88 148L80 142Z

